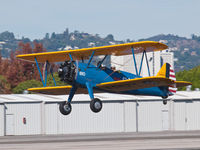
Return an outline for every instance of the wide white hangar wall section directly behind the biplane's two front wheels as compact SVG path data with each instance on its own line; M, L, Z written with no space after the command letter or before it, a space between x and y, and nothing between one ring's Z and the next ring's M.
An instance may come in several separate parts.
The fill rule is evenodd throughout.
M123 103L103 102L99 113L90 110L89 102L72 103L72 112L64 116L58 104L45 106L46 134L123 132ZM57 105L57 106L56 106ZM50 111L51 113L47 113Z

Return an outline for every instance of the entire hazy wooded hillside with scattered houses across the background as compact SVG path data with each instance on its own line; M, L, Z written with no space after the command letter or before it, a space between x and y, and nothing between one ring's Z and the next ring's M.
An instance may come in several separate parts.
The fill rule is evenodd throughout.
M200 64L200 37L196 35L192 35L191 38L185 38L172 34L160 34L150 38L140 39L139 41L144 40L160 41L167 44L169 46L169 51L173 51L176 58L176 72L181 70L188 70ZM116 41L112 34L109 34L106 37L100 37L98 34L92 35L79 31L69 32L68 29L66 29L63 33L46 33L42 39L35 39L33 41L24 37L17 39L15 38L14 33L6 31L0 33L1 55L3 57L8 57L11 51L15 51L17 49L18 43L20 41L24 43L30 42L31 45L33 45L33 42L42 43L47 51L86 48L120 44L125 42ZM132 41L126 40L126 42Z

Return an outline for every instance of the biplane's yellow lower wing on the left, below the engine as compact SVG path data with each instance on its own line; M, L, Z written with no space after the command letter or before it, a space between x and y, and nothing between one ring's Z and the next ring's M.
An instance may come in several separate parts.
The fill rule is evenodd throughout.
M42 94L50 94L50 95L65 95L69 94L72 86L55 86L55 87L39 87L39 88L29 88L28 91L42 93ZM87 90L84 88L78 88L76 94L84 94L87 93Z

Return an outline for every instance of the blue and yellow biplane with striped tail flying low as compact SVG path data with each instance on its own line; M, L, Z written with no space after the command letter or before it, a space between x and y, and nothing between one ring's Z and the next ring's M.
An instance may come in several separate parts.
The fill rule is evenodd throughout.
M29 88L28 91L52 95L69 95L66 101L59 104L60 112L63 115L68 115L72 111L71 101L75 93L88 93L91 99L90 108L95 113L100 112L102 109L102 101L94 97L96 92L160 96L163 98L163 103L166 104L166 98L173 95L177 87L191 84L190 82L171 79L170 77L175 78L175 74L168 63L161 67L156 76L150 76L147 53L162 51L167 48L167 45L159 42L144 41L66 51L23 54L18 55L17 58L36 63L44 86ZM138 53L142 54L139 68L137 68L136 64L136 54ZM94 56L100 55L103 55L102 59L96 65L92 64L91 61ZM103 62L109 55L133 55L133 67L135 67L136 74L116 71L103 66ZM141 76L141 68L145 58L149 72L148 77ZM48 71L48 64L54 62L63 62L60 64L58 74L61 81L66 83L66 86L56 86L53 72ZM44 63L46 66L43 69L43 75L39 63ZM46 86L48 72L52 75L54 87Z

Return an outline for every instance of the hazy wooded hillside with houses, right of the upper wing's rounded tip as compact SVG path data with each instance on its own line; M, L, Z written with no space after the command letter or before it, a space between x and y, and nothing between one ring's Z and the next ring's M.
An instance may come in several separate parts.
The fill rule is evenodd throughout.
M200 64L200 37L192 35L192 38L175 35L157 35L143 40L161 41L169 46L169 51L174 52L175 70L188 70Z

